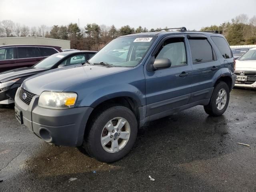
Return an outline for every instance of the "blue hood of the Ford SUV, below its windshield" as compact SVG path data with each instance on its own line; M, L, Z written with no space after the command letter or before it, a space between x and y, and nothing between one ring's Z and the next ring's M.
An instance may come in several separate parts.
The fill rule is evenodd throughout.
M70 68L59 68L40 73L26 79L22 88L40 95L43 91L56 91L62 92L66 88L98 78L108 74L120 72L130 68L126 67L111 67L106 68L103 66L74 66Z

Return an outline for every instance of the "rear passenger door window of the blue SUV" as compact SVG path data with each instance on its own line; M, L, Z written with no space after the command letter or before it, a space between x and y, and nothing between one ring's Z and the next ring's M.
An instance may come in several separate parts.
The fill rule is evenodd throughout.
M212 46L207 39L189 39L193 64L214 60Z

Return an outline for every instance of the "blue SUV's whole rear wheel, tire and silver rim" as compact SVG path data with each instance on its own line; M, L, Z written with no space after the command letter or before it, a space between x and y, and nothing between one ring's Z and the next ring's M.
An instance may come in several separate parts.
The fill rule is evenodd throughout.
M224 91L226 92L226 97L224 96L219 97L219 92L224 93ZM214 88L213 92L212 92L212 97L210 99L210 102L208 105L204 106L204 111L209 114L210 116L220 116L222 115L227 107L228 107L228 102L229 102L229 97L230 97L230 90L228 88L228 85L223 82L220 81ZM225 104L223 104L222 102L225 101L226 98L226 102ZM217 101L218 99L218 101ZM220 105L217 104L217 102L220 102Z

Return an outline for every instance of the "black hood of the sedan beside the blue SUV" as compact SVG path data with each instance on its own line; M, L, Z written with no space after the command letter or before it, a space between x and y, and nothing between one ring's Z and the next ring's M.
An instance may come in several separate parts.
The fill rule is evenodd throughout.
M0 82L10 81L16 78L31 76L45 71L45 69L36 69L30 67L18 68L0 73Z

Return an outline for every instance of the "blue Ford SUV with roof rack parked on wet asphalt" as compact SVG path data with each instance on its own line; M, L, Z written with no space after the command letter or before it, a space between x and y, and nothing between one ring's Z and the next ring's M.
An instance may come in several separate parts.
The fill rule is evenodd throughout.
M15 114L48 143L83 146L90 156L113 162L128 154L146 122L197 105L222 115L234 68L227 41L214 32L182 27L122 36L83 66L25 80Z

